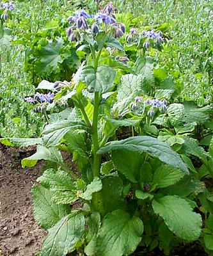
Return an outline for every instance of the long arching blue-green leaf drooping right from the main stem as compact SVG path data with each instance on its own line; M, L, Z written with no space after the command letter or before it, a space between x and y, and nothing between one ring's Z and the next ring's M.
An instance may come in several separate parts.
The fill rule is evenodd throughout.
M162 162L179 168L185 173L189 173L187 166L176 152L171 150L166 143L150 136L136 136L127 138L125 140L111 141L107 143L105 147L100 148L98 154L104 154L110 150L119 149L148 152L149 154L158 157Z

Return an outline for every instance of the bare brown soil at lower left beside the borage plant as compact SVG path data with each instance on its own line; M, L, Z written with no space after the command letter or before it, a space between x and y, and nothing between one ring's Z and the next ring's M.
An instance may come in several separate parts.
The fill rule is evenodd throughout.
M23 169L20 160L33 154L0 144L0 256L31 256L46 232L33 218L31 186L41 175L41 164Z

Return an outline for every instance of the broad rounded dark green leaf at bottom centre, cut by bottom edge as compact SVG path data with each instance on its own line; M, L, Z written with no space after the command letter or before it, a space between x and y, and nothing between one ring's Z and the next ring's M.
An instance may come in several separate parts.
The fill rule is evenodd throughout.
M104 217L97 237L97 255L130 255L136 250L143 234L143 222L138 217L130 218L122 210L116 210Z

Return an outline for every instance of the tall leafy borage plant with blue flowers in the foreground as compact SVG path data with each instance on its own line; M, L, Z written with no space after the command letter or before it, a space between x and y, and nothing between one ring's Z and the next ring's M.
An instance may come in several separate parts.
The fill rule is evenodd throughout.
M116 21L111 4L93 18L81 11L68 20L67 35L86 61L70 84L40 88L56 93L53 102L45 102L48 108L57 102L70 108L49 116L42 138L13 139L17 145L39 144L22 166L49 161L38 178L41 185L32 189L35 219L49 232L40 255L76 250L122 256L139 246L152 250L159 241L168 253L170 243L198 239L201 216L193 212L193 201L164 189L189 175L187 166L166 143L142 135L168 103L152 99L143 61L133 68L125 63L116 40L125 26ZM72 152L77 168L63 161L60 149Z

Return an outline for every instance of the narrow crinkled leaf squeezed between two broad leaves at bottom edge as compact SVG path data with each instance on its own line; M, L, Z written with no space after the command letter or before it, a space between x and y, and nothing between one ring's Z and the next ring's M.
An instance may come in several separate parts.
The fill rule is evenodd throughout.
M100 228L100 213L93 212L90 214L86 224L89 227L88 234L86 236L86 241L88 244L84 247L84 252L88 256L93 256L96 252L96 239Z

